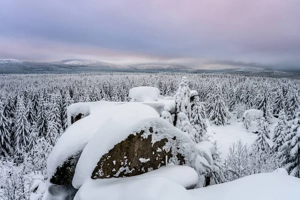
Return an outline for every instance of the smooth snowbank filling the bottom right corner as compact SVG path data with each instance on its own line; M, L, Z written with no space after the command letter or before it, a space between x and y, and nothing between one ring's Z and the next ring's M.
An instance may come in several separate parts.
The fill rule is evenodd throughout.
M297 199L300 179L280 173L257 173L231 182L188 190L187 199L211 200L283 200Z

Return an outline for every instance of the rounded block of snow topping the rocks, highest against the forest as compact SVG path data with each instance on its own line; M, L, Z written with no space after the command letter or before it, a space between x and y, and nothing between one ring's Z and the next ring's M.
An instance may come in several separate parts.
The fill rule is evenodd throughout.
M159 93L157 87L133 87L129 90L129 99L131 102L151 102L158 100Z

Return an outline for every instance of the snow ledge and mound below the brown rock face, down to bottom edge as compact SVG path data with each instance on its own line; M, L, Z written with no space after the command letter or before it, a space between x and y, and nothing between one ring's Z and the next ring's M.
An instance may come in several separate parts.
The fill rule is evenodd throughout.
M174 195L172 199L177 199L186 197L184 187L193 187L197 181L198 175L193 168L168 165L131 177L89 178L80 187L74 199L93 200L99 196L103 199L169 199L169 191Z

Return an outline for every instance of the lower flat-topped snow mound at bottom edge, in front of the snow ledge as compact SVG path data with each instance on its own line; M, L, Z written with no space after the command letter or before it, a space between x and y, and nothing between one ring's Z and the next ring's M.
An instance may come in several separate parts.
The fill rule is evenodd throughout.
M191 197L183 186L166 177L133 177L88 178L76 193L74 200L182 200Z

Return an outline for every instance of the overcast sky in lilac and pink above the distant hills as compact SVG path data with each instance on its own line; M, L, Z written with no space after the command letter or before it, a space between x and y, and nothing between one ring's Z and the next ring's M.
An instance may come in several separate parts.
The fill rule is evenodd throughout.
M300 69L300 0L0 0L0 58Z

